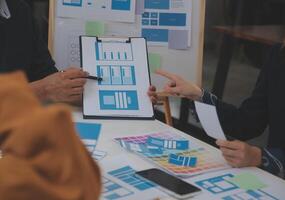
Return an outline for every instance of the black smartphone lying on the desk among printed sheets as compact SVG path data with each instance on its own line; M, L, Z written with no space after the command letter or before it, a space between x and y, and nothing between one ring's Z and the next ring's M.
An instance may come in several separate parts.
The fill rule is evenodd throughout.
M147 169L136 172L137 175L159 185L166 193L178 199L185 199L197 195L201 189L160 169Z

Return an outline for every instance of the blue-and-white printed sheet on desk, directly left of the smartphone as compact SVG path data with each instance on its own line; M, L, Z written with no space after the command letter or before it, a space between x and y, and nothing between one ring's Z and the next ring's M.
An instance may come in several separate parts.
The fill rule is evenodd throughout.
M137 176L137 165L125 155L102 161L99 165L103 176L102 200L152 200L167 196L156 184Z

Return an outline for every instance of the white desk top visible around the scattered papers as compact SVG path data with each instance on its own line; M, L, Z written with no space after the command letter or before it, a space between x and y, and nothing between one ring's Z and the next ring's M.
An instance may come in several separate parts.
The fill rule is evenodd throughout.
M159 121L121 121L121 120L84 120L82 118L82 114L80 111L76 111L73 114L75 122L88 122L88 123L100 123L102 124L102 130L99 137L98 145L96 148L102 151L108 152L108 155L104 159L110 159L112 157L125 154L132 163L136 164L136 168L139 170L152 168L154 167L150 162L147 162L141 159L139 156L127 152L122 149L118 144L113 141L115 137L123 137L123 136L135 136L141 135L145 133L152 133L156 131L164 131L164 130L171 130L178 134L181 134L183 137L189 138L190 141L195 141L199 143L201 146L205 148L210 148L211 151L220 153L218 149L199 141L181 131L178 131L172 127L169 127ZM100 164L100 163L99 163ZM244 168L244 169L229 169L223 170L219 172L212 172L206 175L198 175L193 178L186 179L186 181L194 183L198 180L203 180L205 177L211 177L219 174L225 173L240 173L240 172L250 172L258 176L262 181L264 181L268 189L266 188L267 192L270 192L274 197L277 199L285 199L285 181L277 178L263 170L258 168ZM225 193L227 194L227 193ZM225 196L223 194L223 196ZM230 194L230 193L229 193ZM227 196L227 195L226 195ZM220 199L222 196L219 195L212 195L210 192L203 190L201 195L196 196L193 199ZM170 198L171 199L171 198Z

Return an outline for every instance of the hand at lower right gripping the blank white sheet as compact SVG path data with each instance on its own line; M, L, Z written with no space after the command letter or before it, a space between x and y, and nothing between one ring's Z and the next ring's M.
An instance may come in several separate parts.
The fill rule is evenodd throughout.
M217 140L225 160L233 167L257 167L261 164L261 149L238 140Z

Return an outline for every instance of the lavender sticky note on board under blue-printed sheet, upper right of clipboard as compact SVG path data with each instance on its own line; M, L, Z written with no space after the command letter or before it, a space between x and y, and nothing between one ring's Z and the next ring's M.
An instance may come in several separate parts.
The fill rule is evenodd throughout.
M169 30L168 48L185 50L188 49L189 31L188 30Z

